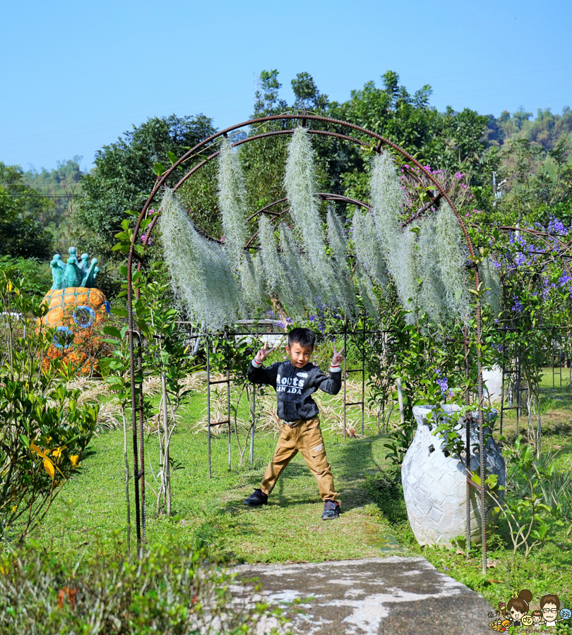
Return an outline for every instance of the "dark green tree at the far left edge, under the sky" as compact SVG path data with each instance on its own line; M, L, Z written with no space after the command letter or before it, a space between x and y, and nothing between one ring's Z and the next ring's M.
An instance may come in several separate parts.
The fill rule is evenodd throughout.
M0 162L0 255L48 258L50 239L40 218L51 206L25 183L19 166Z

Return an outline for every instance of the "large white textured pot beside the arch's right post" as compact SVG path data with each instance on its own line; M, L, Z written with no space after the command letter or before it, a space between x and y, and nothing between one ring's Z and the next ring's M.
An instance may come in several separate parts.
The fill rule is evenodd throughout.
M446 412L456 412L459 406L443 406ZM427 422L431 412L429 406L414 406L417 421L415 438L405 454L401 466L401 479L407 516L419 545L435 543L449 545L451 540L465 536L467 526L467 477L465 466L448 452L443 452L442 437L431 434L435 424ZM496 411L488 417L489 423L496 418ZM457 431L465 444L465 418L461 418ZM487 439L488 428L485 428ZM479 473L479 428L477 413L472 413L470 423L470 468ZM499 485L506 483L506 468L499 446L489 435L484 447L487 475L499 477ZM463 461L465 452L461 455ZM481 503L479 492L471 488L471 540L481 540ZM487 526L494 521L494 503L485 502Z

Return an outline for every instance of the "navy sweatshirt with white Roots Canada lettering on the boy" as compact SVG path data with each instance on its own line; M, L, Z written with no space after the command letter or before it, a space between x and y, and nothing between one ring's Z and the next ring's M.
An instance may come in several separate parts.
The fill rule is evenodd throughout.
M319 388L328 394L338 394L342 387L341 369L330 368L330 375L308 363L296 368L290 361L275 362L264 368L252 360L249 380L253 384L272 386L278 398L278 416L286 423L318 416L318 406L311 395Z

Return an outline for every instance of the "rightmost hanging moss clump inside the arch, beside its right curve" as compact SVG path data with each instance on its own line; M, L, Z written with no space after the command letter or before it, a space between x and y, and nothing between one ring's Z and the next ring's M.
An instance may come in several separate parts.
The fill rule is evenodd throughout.
M436 240L441 281L445 290L446 313L466 322L468 317L469 294L465 274L463 234L448 202L439 206L436 217Z

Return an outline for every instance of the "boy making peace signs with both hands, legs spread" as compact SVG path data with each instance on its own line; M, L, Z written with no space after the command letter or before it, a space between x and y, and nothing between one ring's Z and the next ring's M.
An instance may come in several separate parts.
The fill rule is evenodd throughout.
M298 454L302 453L306 465L310 468L318 481L320 495L324 502L323 520L338 518L340 503L335 500L338 494L333 485L333 476L326 459L326 447L318 419L318 406L311 395L319 388L328 394L338 394L342 387L342 352L335 350L330 365L330 376L310 363L314 351L316 335L311 329L292 329L288 334L286 353L287 361L275 362L264 368L263 361L272 351L264 346L256 353L256 357L249 366L249 380L253 384L272 386L278 398L278 416L282 420L280 425L280 439L274 456L266 472L260 489L244 501L245 505L258 507L268 504L268 495L272 492L278 477ZM272 349L274 350L274 349Z

